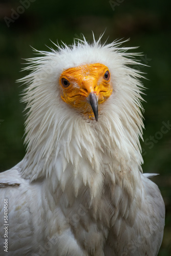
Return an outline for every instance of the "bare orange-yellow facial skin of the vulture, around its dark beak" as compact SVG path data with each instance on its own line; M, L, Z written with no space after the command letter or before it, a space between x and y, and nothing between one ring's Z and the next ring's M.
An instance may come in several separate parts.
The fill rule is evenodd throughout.
M61 98L66 103L92 118L94 116L89 102L90 93L96 94L98 104L112 94L110 71L101 63L70 68L59 78Z

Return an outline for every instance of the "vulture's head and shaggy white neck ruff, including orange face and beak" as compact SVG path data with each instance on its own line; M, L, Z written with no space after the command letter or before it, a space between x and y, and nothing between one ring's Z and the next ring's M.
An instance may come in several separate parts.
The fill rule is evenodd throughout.
M31 73L20 79L27 84L24 178L51 177L62 191L72 183L75 195L84 184L96 195L105 175L126 189L131 180L131 193L142 163L143 86L131 68L140 65L136 54L127 53L133 48L120 45L84 38L28 59Z

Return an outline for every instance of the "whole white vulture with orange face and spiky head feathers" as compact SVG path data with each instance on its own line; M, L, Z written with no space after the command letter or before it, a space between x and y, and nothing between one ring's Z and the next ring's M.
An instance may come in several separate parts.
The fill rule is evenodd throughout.
M101 37L28 59L27 148L0 175L0 255L158 254L165 207L141 168L140 54Z

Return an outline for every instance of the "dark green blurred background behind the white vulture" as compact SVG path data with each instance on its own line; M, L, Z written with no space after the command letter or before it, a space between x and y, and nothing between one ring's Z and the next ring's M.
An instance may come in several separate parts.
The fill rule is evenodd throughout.
M22 5L23 3L23 5ZM25 7L24 7L25 6ZM159 173L153 179L161 190L166 206L166 226L159 255L171 255L171 129L170 122L170 9L171 2L143 1L40 1L20 0L0 3L0 172L11 168L25 155L23 146L24 105L19 103L23 86L15 82L26 75L22 58L33 57L30 46L38 50L52 47L49 39L72 44L73 37L88 40L104 32L103 40L131 38L124 46L140 46L143 64L135 67L147 73L144 142L146 173ZM14 12L19 12L17 14ZM18 17L17 17L18 16ZM5 19L4 19L5 18ZM9 19L10 18L10 19Z

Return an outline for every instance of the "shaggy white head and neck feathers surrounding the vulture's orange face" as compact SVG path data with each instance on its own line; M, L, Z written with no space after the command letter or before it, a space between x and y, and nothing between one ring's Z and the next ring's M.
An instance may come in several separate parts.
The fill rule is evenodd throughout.
M53 174L56 176L54 189L59 183L63 190L73 173L75 180L80 179L74 187L76 194L83 183L94 189L92 195L95 196L100 187L96 187L95 184L92 187L91 179L92 176L96 177L94 180L100 184L99 179L102 179L103 174L100 159L106 152L118 166L117 172L115 170L115 174L112 174L112 182L116 179L120 180L120 184L124 182L122 169L127 179L130 179L127 166L134 172L141 170L139 137L142 138L143 122L140 93L143 86L138 79L142 74L129 67L141 65L133 59L139 54L127 53L127 50L135 48L120 48L123 43L120 41L101 44L101 37L102 35L96 41L93 36L91 44L84 37L83 40L74 40L74 44L69 47L65 44L54 44L57 50L51 49L51 52L34 49L36 54L42 56L28 59L30 66L25 70L32 72L19 80L28 85L23 97L23 101L27 103L26 109L29 110L25 139L27 154L22 163L24 178L33 181ZM81 114L75 109L69 109L60 99L58 80L61 72L85 63L102 63L108 66L111 80L115 81L114 93L103 103L103 108L99 105L100 119L97 123L83 119ZM82 170L85 161L82 155L84 159L86 156L86 166L89 166L90 172L87 167L86 170ZM62 159L62 166L59 158ZM116 166L107 166L107 172L111 173L111 168ZM134 174L132 179L135 179ZM126 182L126 178L124 180ZM130 193L131 190L130 187Z

